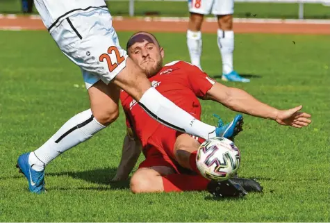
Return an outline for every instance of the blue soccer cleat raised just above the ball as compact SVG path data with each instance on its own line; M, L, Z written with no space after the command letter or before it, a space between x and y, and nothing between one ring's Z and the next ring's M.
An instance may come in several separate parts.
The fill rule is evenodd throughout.
M242 131L243 117L242 115L236 115L236 117L230 123L224 125L222 119L218 115L214 115L219 121L217 122L217 129L215 129L215 134L217 137L224 137L231 141L233 138Z

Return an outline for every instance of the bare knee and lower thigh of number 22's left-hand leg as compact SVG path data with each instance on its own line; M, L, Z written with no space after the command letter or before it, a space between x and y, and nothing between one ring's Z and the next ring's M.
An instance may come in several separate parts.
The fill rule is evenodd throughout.
M97 81L88 88L90 97L90 108L98 122L104 125L115 122L119 116L119 88L109 83L106 85L103 81Z

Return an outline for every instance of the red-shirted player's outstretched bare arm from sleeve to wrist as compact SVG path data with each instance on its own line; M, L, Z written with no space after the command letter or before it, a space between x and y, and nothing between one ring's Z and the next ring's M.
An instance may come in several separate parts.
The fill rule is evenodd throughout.
M231 110L266 119L277 119L279 113L277 108L258 101L244 90L228 88L220 83L215 83L208 90L207 99L217 101Z

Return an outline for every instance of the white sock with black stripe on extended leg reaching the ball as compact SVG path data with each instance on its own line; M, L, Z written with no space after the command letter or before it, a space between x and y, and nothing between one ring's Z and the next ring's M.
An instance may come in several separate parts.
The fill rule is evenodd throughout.
M195 119L154 88L149 88L142 95L139 104L151 117L165 126L204 139L215 137L215 126Z

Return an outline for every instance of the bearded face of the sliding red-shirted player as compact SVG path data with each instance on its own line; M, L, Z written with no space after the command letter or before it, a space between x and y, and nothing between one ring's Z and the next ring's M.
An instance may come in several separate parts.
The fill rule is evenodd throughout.
M158 44L144 40L131 46L129 56L141 67L148 77L157 74L163 67L163 48Z

